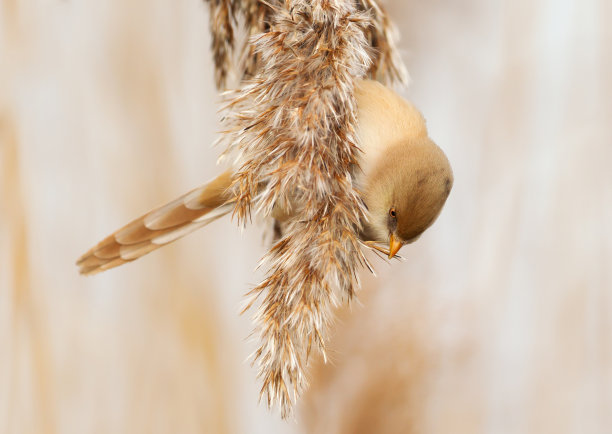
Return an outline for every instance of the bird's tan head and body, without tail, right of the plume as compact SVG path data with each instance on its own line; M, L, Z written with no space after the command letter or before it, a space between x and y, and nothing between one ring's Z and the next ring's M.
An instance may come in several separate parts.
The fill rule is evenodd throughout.
M453 172L412 104L369 80L359 83L355 95L364 151L361 189L369 210L363 238L388 242L389 251L382 251L391 258L435 221L452 188Z

